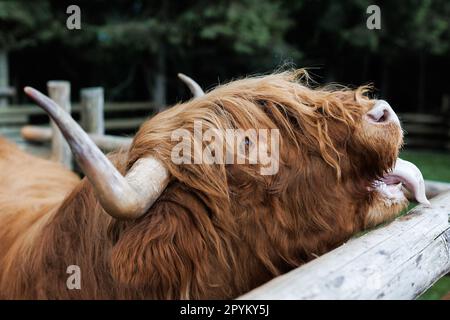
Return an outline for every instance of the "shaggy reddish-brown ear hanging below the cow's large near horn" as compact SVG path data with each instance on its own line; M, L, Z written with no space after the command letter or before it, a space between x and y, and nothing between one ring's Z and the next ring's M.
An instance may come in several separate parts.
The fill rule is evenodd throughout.
M117 287L143 298L189 298L201 290L194 283L200 273L208 273L207 257L205 241L189 212L162 202L118 235L111 251L112 278Z

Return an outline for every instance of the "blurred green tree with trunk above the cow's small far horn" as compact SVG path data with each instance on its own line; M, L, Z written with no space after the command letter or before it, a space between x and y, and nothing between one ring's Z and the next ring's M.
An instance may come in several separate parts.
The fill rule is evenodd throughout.
M61 12L67 3L54 5ZM215 76L227 63L266 65L268 69L278 65L283 55L298 57L284 41L291 23L277 1L100 0L82 2L80 7L83 32L62 28L61 40L79 48L95 39L92 46L101 48L104 54L129 59L130 75L115 86L113 95L143 71L149 95L165 105L167 74L169 70L177 72L170 68L183 61L200 65Z

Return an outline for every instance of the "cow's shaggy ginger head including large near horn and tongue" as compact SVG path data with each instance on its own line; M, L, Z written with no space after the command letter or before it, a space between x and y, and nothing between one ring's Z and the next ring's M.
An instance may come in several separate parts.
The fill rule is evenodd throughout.
M145 215L168 183L177 181L200 193L219 220L238 225L242 237L256 243L264 235L289 260L295 254L323 253L364 227L390 219L407 204L403 187L427 203L420 172L398 159L403 135L389 104L368 98L367 87L311 88L298 80L299 74L234 81L206 95L200 89L197 98L142 125L124 175L51 100L26 91L58 123L113 217ZM227 150L225 141L223 152L211 153L206 131L220 136L229 129L242 130L235 148ZM261 130L267 134L259 135ZM174 132L190 135L181 141ZM191 153L175 161L180 143L189 144ZM249 158L252 148L262 147L272 162L238 163L239 154ZM196 153L205 150L216 160L223 158L196 160ZM262 174L273 161L276 170Z

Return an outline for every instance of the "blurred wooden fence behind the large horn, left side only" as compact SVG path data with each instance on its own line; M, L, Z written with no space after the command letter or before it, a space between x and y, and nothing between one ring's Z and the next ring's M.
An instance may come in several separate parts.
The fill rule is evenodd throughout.
M71 104L70 83L49 81L48 94L66 111L78 119L91 138L105 152L131 142L131 138L110 133L133 134L155 110L150 102L104 103L103 89L85 88L80 92L81 102ZM29 125L44 119L47 124ZM0 107L0 135L16 142L23 149L36 155L52 158L71 167L71 153L59 130L48 125L46 113L36 105L8 105Z

